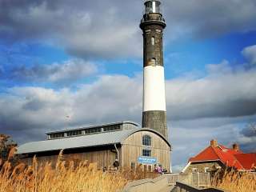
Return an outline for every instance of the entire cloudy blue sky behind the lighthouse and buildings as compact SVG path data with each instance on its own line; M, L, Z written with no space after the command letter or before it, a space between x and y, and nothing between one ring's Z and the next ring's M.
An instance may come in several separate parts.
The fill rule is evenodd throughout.
M0 133L142 121L143 1L0 0ZM172 166L209 146L256 151L255 0L162 0Z

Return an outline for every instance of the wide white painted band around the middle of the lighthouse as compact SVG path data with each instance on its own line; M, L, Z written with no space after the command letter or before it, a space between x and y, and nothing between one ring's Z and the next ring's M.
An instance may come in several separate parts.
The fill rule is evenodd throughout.
M163 66L144 67L143 111L166 111L165 74Z

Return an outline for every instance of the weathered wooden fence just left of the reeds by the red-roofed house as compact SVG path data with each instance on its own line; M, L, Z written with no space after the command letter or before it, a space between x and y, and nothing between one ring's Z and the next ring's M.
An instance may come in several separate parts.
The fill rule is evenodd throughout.
M191 186L210 186L210 173L166 174L166 177L170 185L175 185L176 182L183 182Z

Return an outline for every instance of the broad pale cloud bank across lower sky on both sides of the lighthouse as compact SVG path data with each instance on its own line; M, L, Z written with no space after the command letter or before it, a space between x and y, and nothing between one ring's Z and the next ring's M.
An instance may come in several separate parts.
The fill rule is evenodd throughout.
M166 81L168 125L177 169L212 138L226 146L239 142L242 149L253 149L255 138L242 129L256 117L256 70L229 70L229 65L224 61L207 66L209 74L204 78ZM0 132L13 135L18 142L42 139L46 130L67 126L141 122L142 74L135 78L103 75L77 90L14 87L0 95L0 108L5 109L0 110Z

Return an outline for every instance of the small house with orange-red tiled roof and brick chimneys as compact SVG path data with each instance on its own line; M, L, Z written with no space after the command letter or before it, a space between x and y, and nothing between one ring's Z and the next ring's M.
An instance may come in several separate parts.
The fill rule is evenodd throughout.
M239 150L238 144L230 149L212 140L210 146L190 158L182 173L202 173L227 167L239 171L256 171L256 153L245 154Z

